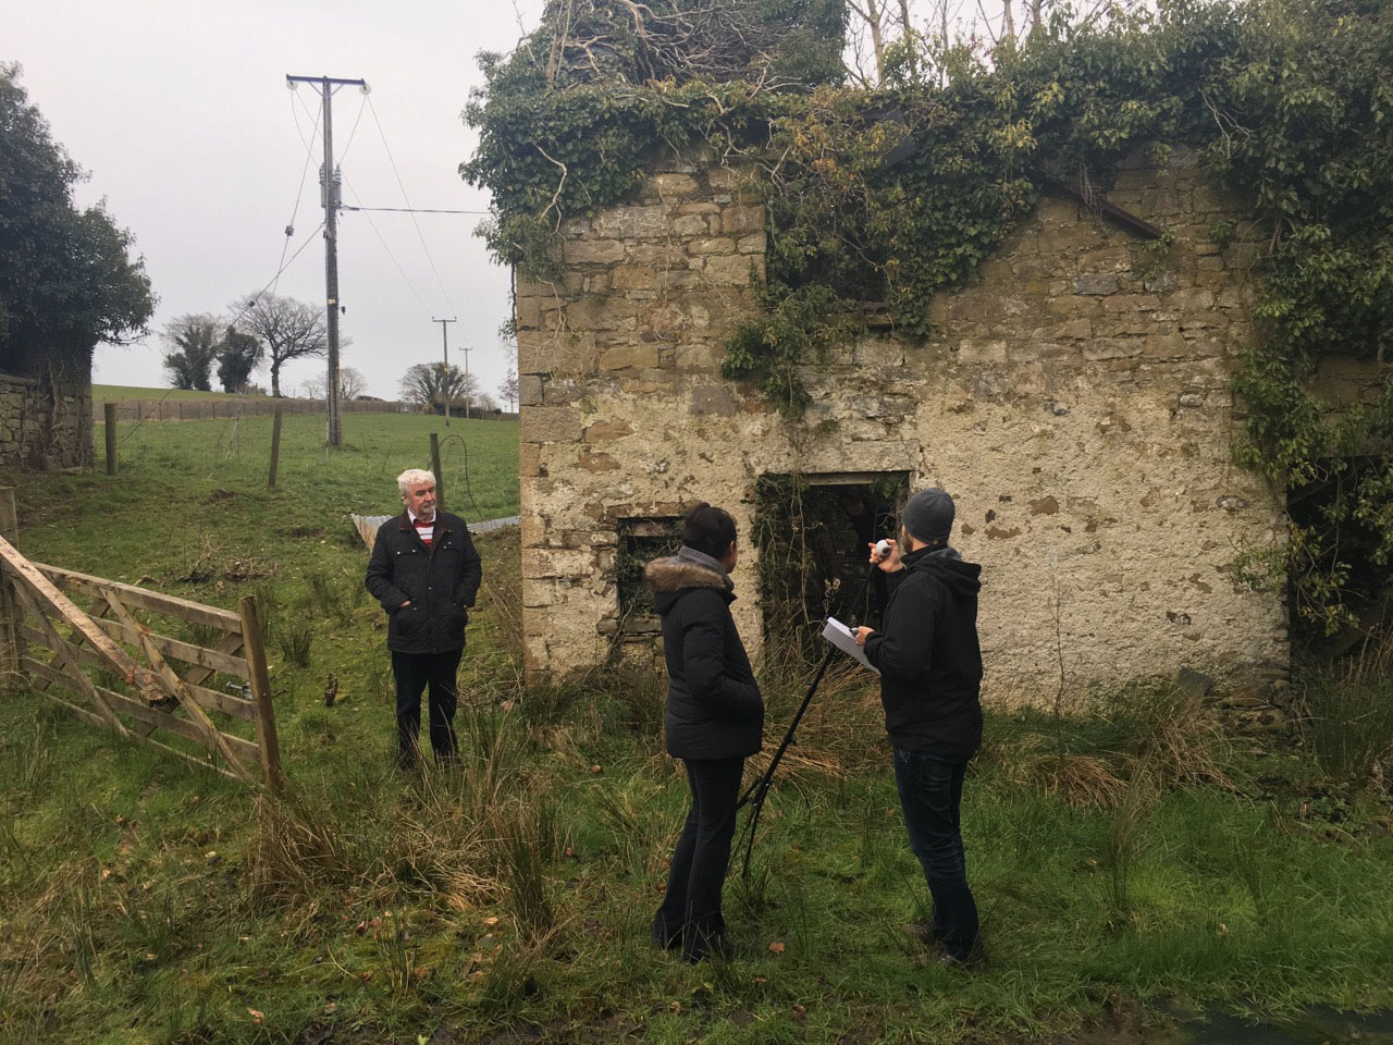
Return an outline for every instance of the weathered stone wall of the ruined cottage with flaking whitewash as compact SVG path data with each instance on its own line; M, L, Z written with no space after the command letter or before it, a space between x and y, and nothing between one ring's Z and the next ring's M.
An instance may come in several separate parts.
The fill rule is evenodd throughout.
M933 301L926 343L871 333L811 368L804 425L719 375L763 268L763 209L738 185L724 167L669 163L631 205L564 227L564 279L520 281L534 677L606 656L623 528L698 500L736 516L734 612L758 658L754 486L791 472L908 472L957 497L997 698L1286 665L1280 596L1234 567L1283 534L1275 495L1230 458L1252 251L1209 241L1233 208L1192 155L1127 162L1109 194L1173 247L1046 196L970 287Z

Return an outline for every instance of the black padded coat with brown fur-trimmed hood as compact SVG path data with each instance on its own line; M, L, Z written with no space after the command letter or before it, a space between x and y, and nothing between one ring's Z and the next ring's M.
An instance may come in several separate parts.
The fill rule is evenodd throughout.
M759 751L765 702L730 616L734 595L716 570L659 559L644 570L663 619L667 754L745 758Z

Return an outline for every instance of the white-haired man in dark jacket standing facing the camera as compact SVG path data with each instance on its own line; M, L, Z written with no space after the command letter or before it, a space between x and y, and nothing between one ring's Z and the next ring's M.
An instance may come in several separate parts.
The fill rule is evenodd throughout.
M436 511L435 475L408 468L397 477L405 510L378 528L368 562L368 591L387 613L387 651L397 680L397 765L417 762L421 694L430 687L430 750L454 761L456 673L464 653L468 609L483 567L464 520Z

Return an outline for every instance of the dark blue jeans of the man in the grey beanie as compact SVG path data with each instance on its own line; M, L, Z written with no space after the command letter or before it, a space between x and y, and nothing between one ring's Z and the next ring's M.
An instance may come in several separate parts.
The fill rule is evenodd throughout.
M915 751L894 750L894 783L900 790L910 849L924 867L933 895L933 938L957 959L976 943L976 900L967 885L963 857L963 777L967 764L953 765Z

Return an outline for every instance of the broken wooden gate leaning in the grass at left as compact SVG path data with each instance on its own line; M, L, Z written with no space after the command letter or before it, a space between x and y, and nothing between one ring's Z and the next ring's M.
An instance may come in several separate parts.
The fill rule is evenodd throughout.
M231 613L32 563L3 536L0 573L6 667L32 690L124 738L281 787L255 599Z

